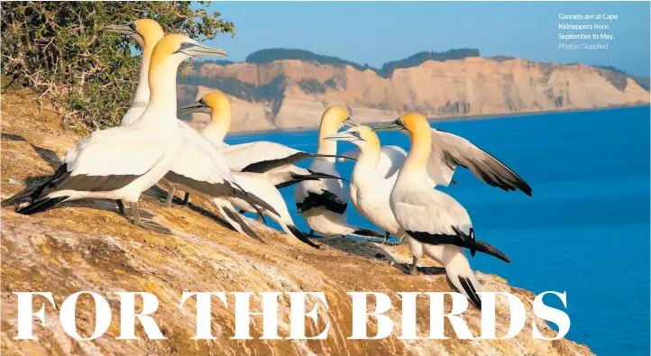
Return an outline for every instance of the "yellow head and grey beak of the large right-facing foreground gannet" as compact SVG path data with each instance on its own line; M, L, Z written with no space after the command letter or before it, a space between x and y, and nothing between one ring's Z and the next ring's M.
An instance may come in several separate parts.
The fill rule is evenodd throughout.
M222 49L215 49L203 45L182 34L168 34L160 40L153 50L151 63L161 63L170 60L172 64L179 65L182 61L197 56L226 57L228 54Z

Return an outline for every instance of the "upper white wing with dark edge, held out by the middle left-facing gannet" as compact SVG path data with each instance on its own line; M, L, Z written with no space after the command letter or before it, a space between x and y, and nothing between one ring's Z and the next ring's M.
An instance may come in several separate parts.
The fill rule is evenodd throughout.
M264 173L312 157L307 152L270 141L233 145L223 152L228 166L234 171L244 173Z

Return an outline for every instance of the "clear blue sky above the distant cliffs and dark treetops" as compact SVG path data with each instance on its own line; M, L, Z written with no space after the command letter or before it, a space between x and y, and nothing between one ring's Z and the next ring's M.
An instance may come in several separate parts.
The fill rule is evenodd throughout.
M202 6L202 5L196 5ZM235 37L209 44L231 60L255 50L291 48L371 67L423 50L475 48L481 56L610 65L649 75L648 2L213 2L235 25ZM610 14L617 20L560 20L559 14ZM559 23L607 24L608 30L559 30ZM559 33L605 33L607 40L559 40ZM607 50L562 50L564 44L608 44Z

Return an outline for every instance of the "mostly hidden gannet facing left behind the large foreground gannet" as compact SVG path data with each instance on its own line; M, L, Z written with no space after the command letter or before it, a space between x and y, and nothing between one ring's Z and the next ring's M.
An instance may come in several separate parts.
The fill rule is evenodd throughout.
M126 24L107 25L102 28L102 31L123 33L136 41L142 51L140 76L138 78L138 87L136 88L135 96L133 98L133 104L122 118L122 125L128 126L142 115L144 109L147 107L147 103L149 103L148 71L151 61L151 53L153 52L156 43L158 43L165 34L163 33L160 24L151 19L141 19ZM89 140L90 137L87 137L79 141L78 144L68 151L63 160L63 164L55 173L55 176L67 172L69 170L68 167L72 167L72 163L77 159L78 151L86 145ZM40 194L34 194L37 189L38 186L27 188L19 194L5 200L3 204L12 204L25 198L31 198L33 202L33 200ZM119 205L121 207L121 212L124 213L122 203L120 202Z

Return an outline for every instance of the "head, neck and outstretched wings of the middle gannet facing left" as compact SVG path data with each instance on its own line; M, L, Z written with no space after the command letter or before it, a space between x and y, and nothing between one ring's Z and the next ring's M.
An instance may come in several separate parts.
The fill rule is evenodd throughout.
M289 187L303 180L335 178L327 174L300 168L294 163L308 158L320 157L305 151L298 151L277 142L253 141L235 145L225 143L232 121L231 104L221 92L215 91L179 109L179 114L210 114L210 122L201 135L223 152L228 167L234 172L261 175L270 184L280 188Z

